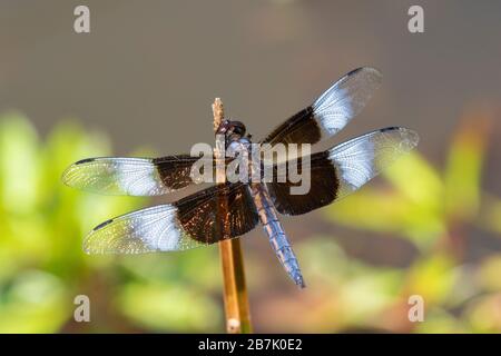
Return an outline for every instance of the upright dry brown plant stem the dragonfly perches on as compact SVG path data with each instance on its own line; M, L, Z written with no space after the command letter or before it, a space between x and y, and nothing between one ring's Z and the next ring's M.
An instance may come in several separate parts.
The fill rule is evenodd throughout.
M223 102L216 98L213 103L214 131L224 119ZM217 145L216 145L217 146ZM225 152L215 149L216 160L224 161ZM216 170L216 181L225 181L225 170ZM224 199L223 199L224 200ZM219 207L226 214L226 200ZM224 239L219 243L220 260L223 267L224 303L226 316L226 330L229 334L252 333L250 312L248 307L247 287L245 284L244 258L240 240L238 238Z

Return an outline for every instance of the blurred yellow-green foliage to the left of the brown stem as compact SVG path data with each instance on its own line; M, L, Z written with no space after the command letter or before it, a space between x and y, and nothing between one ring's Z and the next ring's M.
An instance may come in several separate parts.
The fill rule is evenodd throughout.
M69 164L110 152L105 136L75 121L42 140L22 115L0 117L0 333L220 329L217 248L168 259L82 253L96 224L146 202L61 184ZM96 323L73 322L79 294Z

